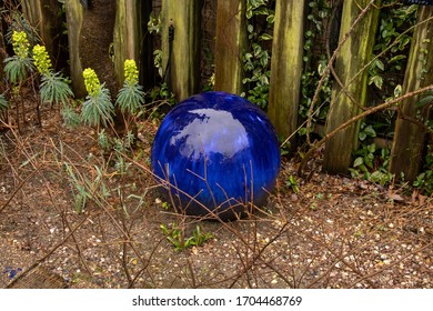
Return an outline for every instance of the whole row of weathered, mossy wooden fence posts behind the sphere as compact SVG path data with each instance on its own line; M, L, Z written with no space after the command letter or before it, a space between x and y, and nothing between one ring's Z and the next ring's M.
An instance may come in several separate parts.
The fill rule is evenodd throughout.
M178 100L200 91L202 1L161 1L162 66L165 68L170 59L168 81ZM47 1L24 2L28 3L24 6L24 12L40 30L41 38L46 43L52 42L52 34L47 28L51 27L48 21L54 18L47 11ZM91 0L88 10L83 9L80 0L67 0L66 3L70 72L78 97L84 94L81 78L83 67L94 68L112 92L115 92L122 82L124 59L135 59L141 64L144 77L145 72L153 70L152 42L145 31L152 1ZM218 0L216 3L214 89L241 93L244 78L242 54L248 44L246 0ZM299 126L306 4L305 0L276 0L268 112L282 137L290 137ZM380 4L379 0L343 1L340 44L326 68L329 72L331 66L335 67L340 82L333 87L325 133L358 116L366 106L367 68L377 30ZM419 8L419 26L413 34L403 94L433 84L432 19L433 7ZM174 27L172 46L168 40L170 24ZM422 51L427 52L420 58ZM415 103L421 96L406 97L399 103L404 118L399 114L396 121L390 169L397 175L403 172L406 180L416 178L425 150L426 132L411 120L419 113ZM425 106L422 113L430 113L427 109L429 106ZM326 141L324 170L331 173L348 172L353 161L353 152L358 148L358 132L359 121Z

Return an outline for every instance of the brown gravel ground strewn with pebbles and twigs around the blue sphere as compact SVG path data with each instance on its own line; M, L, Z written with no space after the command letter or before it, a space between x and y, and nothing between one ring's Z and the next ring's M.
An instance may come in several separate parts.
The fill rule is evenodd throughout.
M285 180L298 164L284 161L262 212L200 221L167 208L147 172L152 124L141 126L123 175L101 164L89 129L69 131L57 118L43 128L21 140L0 133L2 288L39 262L69 288L433 288L433 200L416 191L318 171L295 193ZM110 195L94 183L77 213L64 163L81 181L104 168ZM185 238L197 225L212 238L175 250L160 228L170 223Z

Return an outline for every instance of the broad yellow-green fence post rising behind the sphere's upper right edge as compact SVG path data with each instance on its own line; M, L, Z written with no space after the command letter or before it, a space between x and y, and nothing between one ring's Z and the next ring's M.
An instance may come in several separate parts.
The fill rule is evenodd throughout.
M276 0L268 113L282 138L298 126L304 6L304 0Z

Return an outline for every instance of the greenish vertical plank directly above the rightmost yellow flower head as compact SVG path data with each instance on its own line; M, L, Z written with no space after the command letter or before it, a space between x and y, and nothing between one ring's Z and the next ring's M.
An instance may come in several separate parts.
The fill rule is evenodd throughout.
M113 33L114 70L118 84L123 83L124 60L133 59L139 63L141 29L141 1L118 0Z

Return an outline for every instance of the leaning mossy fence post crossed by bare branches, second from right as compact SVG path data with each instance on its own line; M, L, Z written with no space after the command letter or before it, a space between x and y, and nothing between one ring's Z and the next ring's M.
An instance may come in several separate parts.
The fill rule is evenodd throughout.
M360 70L369 62L377 29L379 9L374 6L363 16L362 20L352 29L352 24L367 7L371 0L344 1L340 28L340 41L350 32L349 39L342 46L336 58L335 72L341 86L334 82L330 111L326 117L326 132L331 132L343 122L360 113L365 104L367 71ZM380 4L380 1L376 1ZM355 76L358 77L353 79ZM352 81L353 80L353 81ZM352 81L350 84L349 82ZM352 102L352 99L355 102ZM358 148L359 122L340 131L326 141L323 169L330 173L345 173L352 164L352 153Z

